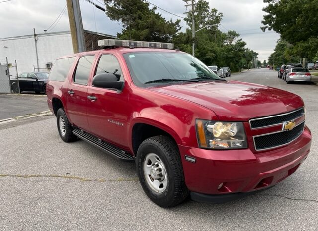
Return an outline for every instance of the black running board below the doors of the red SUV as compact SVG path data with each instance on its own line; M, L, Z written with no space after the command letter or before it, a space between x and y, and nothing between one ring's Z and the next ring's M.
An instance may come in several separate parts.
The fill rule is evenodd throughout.
M108 143L105 142L85 131L82 131L78 128L74 128L73 130L73 134L76 135L77 137L79 137L80 139L94 145L95 147L101 149L102 151L117 157L121 160L124 161L133 161L134 157L132 155L130 155L128 152Z

